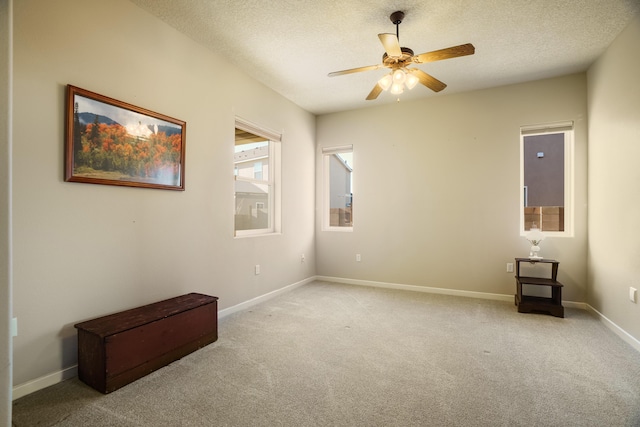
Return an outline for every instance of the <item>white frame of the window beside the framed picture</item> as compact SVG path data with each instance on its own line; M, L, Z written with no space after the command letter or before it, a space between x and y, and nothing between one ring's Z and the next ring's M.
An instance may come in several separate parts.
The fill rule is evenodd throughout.
M233 237L234 238L244 238L244 237L254 237L254 236L269 236L274 234L281 233L281 224L282 224L282 209L281 209L281 143L282 143L282 133L277 132L262 126L258 126L246 119L236 116L235 118L235 127L234 127L234 135L235 129L240 129L245 132L250 132L259 137L264 138L269 141L269 162L267 164L268 179L267 180L256 180L247 177L240 177L237 171L236 164L233 164ZM235 137L234 137L234 153L235 153ZM264 168L264 162L262 165ZM250 230L236 230L235 224L235 214L236 214L236 181L251 182L260 185L267 185L271 191L268 193L267 203L268 207L268 226L267 228L257 228Z

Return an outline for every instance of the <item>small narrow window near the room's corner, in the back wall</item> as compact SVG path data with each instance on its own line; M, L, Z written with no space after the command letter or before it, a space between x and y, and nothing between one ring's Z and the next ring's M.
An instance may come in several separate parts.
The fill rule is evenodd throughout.
M324 148L325 230L353 229L353 146Z

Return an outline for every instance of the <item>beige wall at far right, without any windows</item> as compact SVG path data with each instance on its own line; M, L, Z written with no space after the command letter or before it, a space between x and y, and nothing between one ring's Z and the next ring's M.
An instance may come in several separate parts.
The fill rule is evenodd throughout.
M589 304L640 340L640 17L590 68Z

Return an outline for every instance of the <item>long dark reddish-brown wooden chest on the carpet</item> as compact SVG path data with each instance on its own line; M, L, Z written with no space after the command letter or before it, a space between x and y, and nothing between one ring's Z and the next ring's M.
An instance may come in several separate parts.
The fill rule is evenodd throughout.
M218 339L218 298L191 293L75 325L78 376L110 393Z

